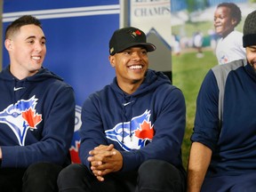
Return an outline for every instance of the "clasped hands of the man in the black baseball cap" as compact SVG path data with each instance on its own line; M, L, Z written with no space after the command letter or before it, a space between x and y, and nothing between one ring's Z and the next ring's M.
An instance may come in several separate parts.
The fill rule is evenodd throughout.
M104 175L118 172L123 167L123 156L114 148L113 144L100 145L93 148L89 154L91 156L87 160L91 163L91 170L100 181L104 180Z

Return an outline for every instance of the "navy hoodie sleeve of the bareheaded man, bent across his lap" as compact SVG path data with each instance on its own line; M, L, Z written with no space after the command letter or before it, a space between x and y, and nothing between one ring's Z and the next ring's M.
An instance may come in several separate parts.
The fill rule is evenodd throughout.
M47 113L43 116L41 139L36 140L35 136L26 146L1 146L2 167L28 167L36 162L64 164L74 132L75 96L70 86L51 86L51 103L42 104Z

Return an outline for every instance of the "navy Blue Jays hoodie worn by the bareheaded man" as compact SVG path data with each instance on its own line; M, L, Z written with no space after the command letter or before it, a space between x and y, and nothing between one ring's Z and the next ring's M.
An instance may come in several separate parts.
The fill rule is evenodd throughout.
M73 89L46 68L19 80L8 66L0 73L0 95L2 167L66 163L75 124Z

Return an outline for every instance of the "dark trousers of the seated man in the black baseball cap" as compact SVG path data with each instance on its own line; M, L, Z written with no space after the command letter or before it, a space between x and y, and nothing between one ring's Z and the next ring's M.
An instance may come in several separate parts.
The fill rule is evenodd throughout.
M161 160L148 160L137 172L118 172L98 181L83 164L70 164L58 178L60 192L183 192L185 172Z

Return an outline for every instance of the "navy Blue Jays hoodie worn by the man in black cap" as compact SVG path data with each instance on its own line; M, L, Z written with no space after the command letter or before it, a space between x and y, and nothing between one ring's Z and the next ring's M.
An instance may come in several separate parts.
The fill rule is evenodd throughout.
M90 169L89 151L112 143L123 156L122 172L136 170L148 159L161 159L182 169L185 122L183 94L163 73L148 70L132 94L123 92L115 78L84 101L80 159Z

